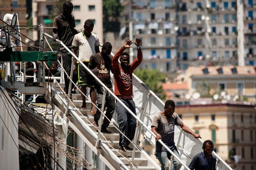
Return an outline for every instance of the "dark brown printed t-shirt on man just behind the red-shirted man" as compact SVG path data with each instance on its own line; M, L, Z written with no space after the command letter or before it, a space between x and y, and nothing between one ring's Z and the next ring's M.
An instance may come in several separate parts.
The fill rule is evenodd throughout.
M112 59L109 56L103 57L101 53L93 54L90 57L89 68L94 69L97 68L96 76L108 87L112 88L110 71L111 71L111 62ZM95 81L96 85L99 85L97 81Z

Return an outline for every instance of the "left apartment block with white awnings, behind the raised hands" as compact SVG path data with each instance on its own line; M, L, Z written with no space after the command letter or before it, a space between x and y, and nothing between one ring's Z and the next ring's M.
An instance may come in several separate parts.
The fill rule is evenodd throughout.
M177 68L176 5L167 0L121 0L122 26L133 22L133 36L142 38L140 67L173 72ZM131 10L131 13L130 13ZM131 15L131 16L130 16Z

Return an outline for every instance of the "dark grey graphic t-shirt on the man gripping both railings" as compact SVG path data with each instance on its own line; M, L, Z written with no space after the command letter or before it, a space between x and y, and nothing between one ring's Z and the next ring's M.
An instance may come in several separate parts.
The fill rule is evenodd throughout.
M163 116L162 113L157 113L153 117L152 126L157 127L157 133L162 136L162 141L166 144L170 150L175 147L174 142L174 127L175 125L180 125L182 120L177 115L173 113L172 116ZM167 151L165 147L162 146L158 141L156 141L156 152Z

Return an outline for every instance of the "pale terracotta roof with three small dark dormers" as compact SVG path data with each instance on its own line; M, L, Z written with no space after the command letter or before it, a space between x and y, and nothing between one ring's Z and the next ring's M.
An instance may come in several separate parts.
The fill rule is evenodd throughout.
M204 74L204 69L208 69L208 74ZM218 69L222 69L222 74L218 73ZM237 73L233 74L232 69L235 68ZM254 66L190 66L186 70L186 74L190 74L191 76L200 76L200 75L256 75L256 68Z

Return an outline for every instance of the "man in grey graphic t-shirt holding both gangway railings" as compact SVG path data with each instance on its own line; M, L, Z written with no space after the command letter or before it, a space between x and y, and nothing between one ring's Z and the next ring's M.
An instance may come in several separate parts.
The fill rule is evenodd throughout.
M157 113L154 116L151 130L156 135L156 151L155 156L161 163L161 170L169 170L169 159L171 153L169 153L165 147L160 144L157 140L161 139L172 152L180 158L174 142L174 128L175 125L180 126L185 132L192 134L196 139L201 138L199 134L194 133L186 125L183 124L180 117L175 111L175 103L172 100L167 100L164 106L164 111ZM173 159L172 170L179 170L181 164L177 159Z

